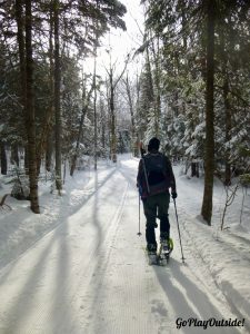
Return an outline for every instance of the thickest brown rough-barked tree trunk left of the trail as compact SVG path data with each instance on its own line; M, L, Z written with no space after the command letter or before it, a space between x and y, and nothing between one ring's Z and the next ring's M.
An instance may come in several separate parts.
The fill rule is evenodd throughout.
M31 0L26 0L26 73L27 73L27 134L29 150L30 203L33 213L39 214L36 122L33 104L33 59L32 59Z

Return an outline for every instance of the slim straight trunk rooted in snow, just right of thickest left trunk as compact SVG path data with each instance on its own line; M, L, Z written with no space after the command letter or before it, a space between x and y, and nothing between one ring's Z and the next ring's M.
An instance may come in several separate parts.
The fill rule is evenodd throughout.
M54 119L56 119L56 186L61 193L61 66L60 66L60 43L59 43L59 1L53 2L54 14Z

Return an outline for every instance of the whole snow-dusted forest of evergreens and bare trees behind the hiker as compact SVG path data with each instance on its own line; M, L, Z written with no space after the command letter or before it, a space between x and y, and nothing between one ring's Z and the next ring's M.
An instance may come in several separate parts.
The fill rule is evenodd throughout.
M13 175L13 195L33 213L44 171L60 196L66 166L73 176L86 156L94 169L118 154L139 157L139 143L152 136L172 161L204 178L208 225L214 177L226 189L236 178L249 186L250 2L140 6L138 47L120 68L110 48L99 72L103 38L127 29L122 0L0 0L1 174Z

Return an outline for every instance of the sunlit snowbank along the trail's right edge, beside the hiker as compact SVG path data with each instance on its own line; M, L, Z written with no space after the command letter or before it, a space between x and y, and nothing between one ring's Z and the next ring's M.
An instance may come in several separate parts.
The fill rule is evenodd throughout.
M203 179L183 176L180 167L176 168L176 174L179 189L178 209L186 246L191 247L207 265L209 274L227 297L232 310L249 321L250 195L247 194L247 204L241 213L243 191L238 191L236 200L226 215L227 229L221 232L226 191L220 181L214 181L213 217L212 226L209 227L200 217ZM240 216L242 216L241 224L239 223Z

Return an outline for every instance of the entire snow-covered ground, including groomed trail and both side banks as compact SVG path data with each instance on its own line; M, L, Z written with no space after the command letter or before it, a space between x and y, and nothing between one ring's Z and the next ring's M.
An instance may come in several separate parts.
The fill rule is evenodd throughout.
M174 166L186 263L171 203L172 257L168 266L149 266L142 206L137 235L137 167L138 159L122 156L117 166L67 175L61 197L41 184L40 215L28 202L7 198L0 333L250 333L250 195L241 213L238 191L221 233L223 187L216 181L208 227L199 216L202 178ZM10 191L1 180L0 196Z

